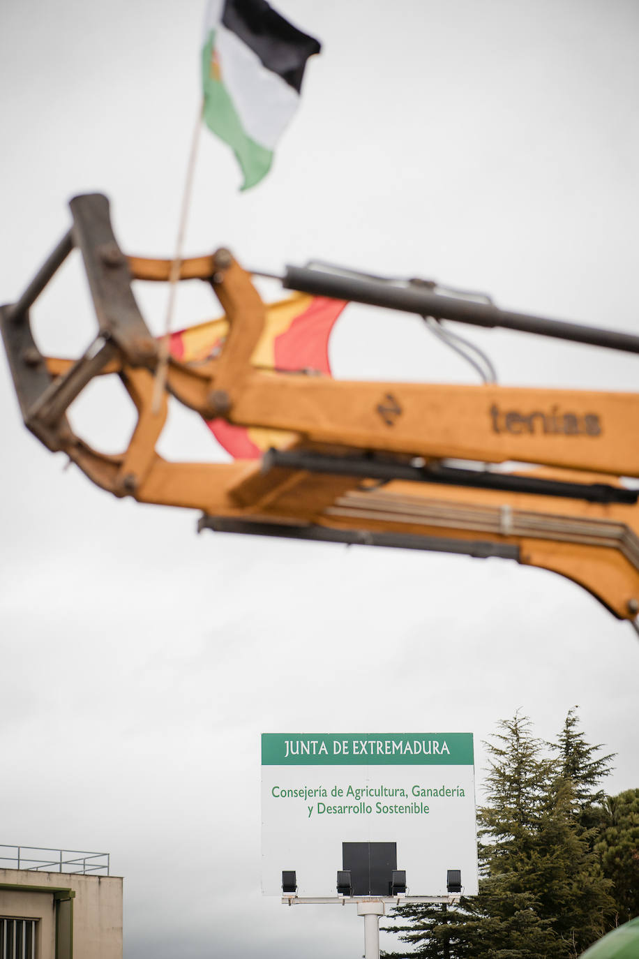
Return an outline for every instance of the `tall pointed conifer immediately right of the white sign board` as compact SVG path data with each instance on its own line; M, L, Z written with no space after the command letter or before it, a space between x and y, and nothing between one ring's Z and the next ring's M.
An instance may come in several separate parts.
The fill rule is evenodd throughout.
M572 733L573 717L569 720ZM602 935L612 903L590 833L575 814L575 784L563 776L563 760L543 756L544 744L533 737L526 717L515 714L500 729L496 742L489 744L489 802L478 817L480 837L490 840L481 850L482 862L489 877L498 880L491 917L502 925L523 921L517 897L525 894L532 915L515 954L579 955ZM587 744L582 742L582 748L590 757ZM568 748L566 762L571 758ZM586 781L591 772L588 767ZM582 791L587 791L585 783Z

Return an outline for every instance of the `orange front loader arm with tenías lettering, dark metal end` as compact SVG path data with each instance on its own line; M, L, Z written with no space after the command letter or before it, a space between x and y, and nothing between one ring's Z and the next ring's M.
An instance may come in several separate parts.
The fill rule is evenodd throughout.
M264 331L281 329L287 301L275 316L249 274L220 249L182 261L179 279L211 286L224 334L217 329L214 349L199 330L195 359L169 355L158 401L164 347L149 331L131 282L169 280L171 261L126 255L101 195L73 199L71 213L71 229L34 281L0 309L0 325L26 426L93 482L140 503L198 509L200 529L513 559L573 579L616 617L635 619L639 505L620 477L639 477L639 443L628 443L639 432L638 396L345 383L327 368L265 363ZM47 357L32 335L30 309L74 247L97 332L80 358ZM294 271L287 275L292 283ZM336 295L338 287L344 296L358 294L356 284L333 290L331 281L312 282L311 292ZM309 284L305 273L298 285ZM370 290L359 291L364 295L373 301ZM407 309L393 303L393 291L384 295L385 305ZM409 297L412 309L454 312L443 302L450 297L423 295L431 299ZM343 305L331 308L327 330ZM467 302L462 312L472 316L473 306L481 305ZM490 318L486 310L479 317ZM634 352L635 339L604 345ZM67 418L97 376L118 377L137 409L128 446L115 456L90 446ZM254 444L249 456L224 464L159 456L169 394L209 423L260 437L261 449ZM451 457L467 463L453 465ZM532 465L496 468L512 460Z

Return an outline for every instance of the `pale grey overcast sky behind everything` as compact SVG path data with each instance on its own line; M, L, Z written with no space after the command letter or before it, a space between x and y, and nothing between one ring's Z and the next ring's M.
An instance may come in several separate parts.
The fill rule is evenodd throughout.
M279 9L323 53L254 191L239 194L235 161L204 131L187 252L425 275L639 333L633 0ZM4 301L80 192L110 196L126 251L171 254L203 12L4 0ZM84 282L70 260L34 310L51 353L94 335ZM140 293L158 333L165 295ZM175 326L215 315L207 291L184 292ZM631 357L470 336L502 383L637 388ZM473 382L418 319L363 307L340 319L331 361L342 377ZM194 513L116 501L63 471L22 427L5 363L0 404L0 841L108 850L125 877L127 959L361 953L353 910L261 898L262 731L470 731L479 769L498 719L520 708L553 737L579 704L590 740L618 754L609 791L638 784L639 643L567 580L497 560L197 537ZM109 450L131 424L105 384L74 416ZM180 409L162 451L224 457Z

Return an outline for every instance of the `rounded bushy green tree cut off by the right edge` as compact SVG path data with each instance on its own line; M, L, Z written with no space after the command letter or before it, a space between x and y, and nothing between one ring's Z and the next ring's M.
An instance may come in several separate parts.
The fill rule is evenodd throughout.
M595 851L612 882L614 926L639 916L639 789L610 796L602 811L604 829Z

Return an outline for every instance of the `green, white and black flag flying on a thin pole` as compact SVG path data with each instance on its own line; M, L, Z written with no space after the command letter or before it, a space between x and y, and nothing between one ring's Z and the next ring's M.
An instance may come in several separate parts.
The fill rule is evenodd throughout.
M233 149L241 189L268 173L320 44L265 0L210 0L202 49L203 118Z

